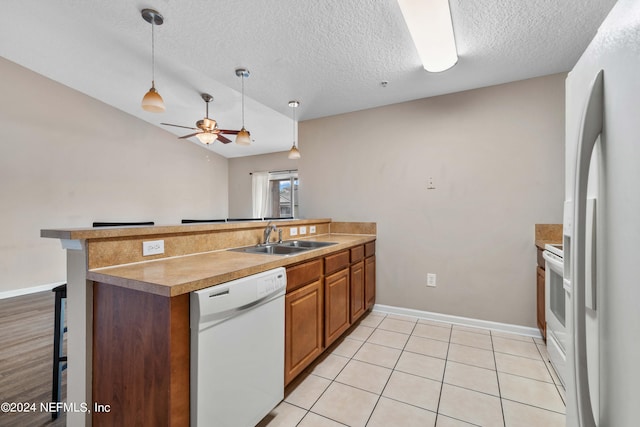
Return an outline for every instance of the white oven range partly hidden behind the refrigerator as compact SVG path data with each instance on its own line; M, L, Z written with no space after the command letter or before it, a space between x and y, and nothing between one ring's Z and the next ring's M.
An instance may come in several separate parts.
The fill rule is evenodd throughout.
M542 253L545 259L545 291L547 320L547 351L551 365L556 370L560 381L565 384L567 360L567 321L571 316L570 293L563 280L562 245L545 245Z

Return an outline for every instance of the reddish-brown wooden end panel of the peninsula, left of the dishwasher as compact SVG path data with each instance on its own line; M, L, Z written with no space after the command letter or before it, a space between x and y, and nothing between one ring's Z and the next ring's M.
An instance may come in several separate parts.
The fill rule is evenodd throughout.
M189 425L189 294L93 285L94 426Z

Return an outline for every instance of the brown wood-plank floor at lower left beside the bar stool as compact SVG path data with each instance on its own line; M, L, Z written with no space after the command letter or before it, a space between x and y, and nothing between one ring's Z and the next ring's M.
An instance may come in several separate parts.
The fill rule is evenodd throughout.
M41 411L51 401L54 293L39 292L0 300L0 404L34 404L35 411L0 411L0 426L64 426ZM62 399L66 399L66 371ZM4 408L4 407L3 407Z

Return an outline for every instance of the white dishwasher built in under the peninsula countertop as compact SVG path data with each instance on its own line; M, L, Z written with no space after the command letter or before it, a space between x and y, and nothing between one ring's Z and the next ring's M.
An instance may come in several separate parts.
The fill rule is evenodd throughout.
M191 426L253 427L284 398L282 267L191 293Z

